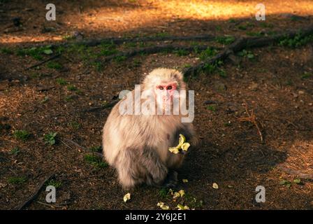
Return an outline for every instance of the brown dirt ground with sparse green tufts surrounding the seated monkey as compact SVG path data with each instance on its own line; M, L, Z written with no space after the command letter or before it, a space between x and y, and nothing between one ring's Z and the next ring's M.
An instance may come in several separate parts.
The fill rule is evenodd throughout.
M0 0L0 209L20 206L48 174L57 203L47 204L41 190L24 209L159 209L158 202L176 209L167 190L146 186L131 190L124 203L127 191L115 170L92 157L110 109L90 109L132 90L154 68L182 70L199 61L196 52L159 52L101 63L103 45L72 46L27 69L51 55L21 49L73 38L268 35L313 23L312 1L263 1L265 22L254 18L258 1L58 0L56 21L45 20L47 3ZM163 43L124 43L116 50ZM175 190L185 191L191 209L313 209L312 42L248 51L253 57L235 55L217 71L187 80L196 92L200 144ZM263 142L255 125L238 120L247 117L245 104L254 109ZM50 132L57 132L54 145L45 143ZM256 186L265 187L265 203L255 201Z

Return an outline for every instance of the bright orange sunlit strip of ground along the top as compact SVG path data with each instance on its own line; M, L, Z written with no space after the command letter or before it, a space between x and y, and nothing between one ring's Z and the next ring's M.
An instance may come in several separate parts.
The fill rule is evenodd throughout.
M14 2L13 2L14 3ZM0 43L23 43L41 41L60 41L68 32L83 30L86 33L108 36L117 32L132 31L143 27L151 29L169 28L171 22L180 20L218 20L254 18L256 4L259 1L78 1L56 4L57 20L45 20L45 5L36 1L25 3L23 8L9 7L6 10L12 16L18 16L20 10L26 10L27 17L22 18L24 27L14 29L8 22L1 25ZM313 15L312 1L262 1L266 15L280 16L284 13ZM10 4L13 6L13 4ZM32 9L32 10L29 10ZM41 11L38 11L42 8ZM10 21L11 18L4 18ZM41 25L56 27L57 31L42 34Z

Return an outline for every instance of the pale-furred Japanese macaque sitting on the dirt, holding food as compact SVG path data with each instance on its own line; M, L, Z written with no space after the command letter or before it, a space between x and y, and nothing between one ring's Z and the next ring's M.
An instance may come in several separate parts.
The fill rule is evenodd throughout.
M177 183L176 170L182 165L185 153L173 154L168 148L177 146L180 134L194 146L194 127L191 123L182 123L184 116L181 113L159 114L157 109L164 112L166 106L173 108L174 100L180 98L175 92L180 90L186 90L182 73L174 69L154 69L145 76L140 93L150 94L152 102L156 102L150 104L150 109L155 106L155 113L136 113L136 109L134 113L125 113L121 110L127 98L136 95L135 88L114 106L108 116L103 127L103 153L105 160L117 169L119 183L124 189L141 183L167 187ZM139 100L143 103L145 99ZM136 102L131 106L134 104Z

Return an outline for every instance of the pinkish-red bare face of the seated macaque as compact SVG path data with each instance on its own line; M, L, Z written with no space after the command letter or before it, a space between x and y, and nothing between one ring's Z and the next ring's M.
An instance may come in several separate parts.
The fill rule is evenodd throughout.
M157 85L155 93L157 95L157 101L159 104L163 104L163 108L166 104L173 103L174 92L177 90L177 83L164 83Z

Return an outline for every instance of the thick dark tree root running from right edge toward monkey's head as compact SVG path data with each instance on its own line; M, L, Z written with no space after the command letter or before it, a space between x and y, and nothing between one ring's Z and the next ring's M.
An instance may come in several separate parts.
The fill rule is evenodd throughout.
M216 64L219 61L224 61L226 58L228 58L229 55L234 54L235 52L239 52L240 50L243 50L245 48L259 48L276 43L282 38L293 38L296 35L300 35L300 37L303 37L308 36L310 34L313 34L312 25L300 30L287 31L286 33L277 34L275 36L240 37L231 45L226 46L224 50L219 52L214 57L206 61L200 62L195 66L191 66L187 69L184 69L182 72L184 73L184 76L192 76L195 73L198 73L199 71L205 69L205 66L207 66L208 64Z

